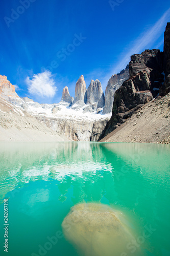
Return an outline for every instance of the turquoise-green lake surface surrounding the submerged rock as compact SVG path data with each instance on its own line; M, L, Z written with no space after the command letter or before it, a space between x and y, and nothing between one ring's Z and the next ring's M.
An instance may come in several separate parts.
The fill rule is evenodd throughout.
M119 212L134 234L137 243L120 256L138 256L132 247L169 256L169 153L169 145L159 144L1 142L0 255L83 255L63 237L61 224L72 206L100 203Z

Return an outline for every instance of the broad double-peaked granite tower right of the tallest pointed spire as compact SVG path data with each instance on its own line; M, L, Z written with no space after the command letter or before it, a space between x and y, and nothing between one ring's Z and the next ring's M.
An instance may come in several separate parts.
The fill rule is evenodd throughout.
M101 82L96 79L91 80L87 89L87 101L86 104L96 103L96 108L103 108L105 105L105 96L102 90Z

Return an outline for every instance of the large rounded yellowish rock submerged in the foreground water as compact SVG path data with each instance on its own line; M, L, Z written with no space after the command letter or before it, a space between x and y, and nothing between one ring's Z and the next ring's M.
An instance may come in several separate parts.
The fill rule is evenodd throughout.
M62 223L65 239L84 256L131 255L127 248L133 236L116 212L104 204L85 203L71 208ZM136 248L134 256L139 256Z

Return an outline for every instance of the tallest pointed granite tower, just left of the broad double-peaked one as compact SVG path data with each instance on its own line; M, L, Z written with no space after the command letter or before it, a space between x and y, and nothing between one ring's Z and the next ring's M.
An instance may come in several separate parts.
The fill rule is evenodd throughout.
M85 93L86 93L86 83L84 80L84 76L81 75L76 83L76 89L75 89L75 99L72 103L75 104L78 100L85 101Z

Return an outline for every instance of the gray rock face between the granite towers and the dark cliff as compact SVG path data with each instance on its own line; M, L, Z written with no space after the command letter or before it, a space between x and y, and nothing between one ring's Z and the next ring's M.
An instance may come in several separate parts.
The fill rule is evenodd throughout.
M105 91L105 106L103 114L112 112L114 93L115 91L122 86L123 82L129 79L129 66L127 65L125 70L122 70L117 75L113 75L107 84Z

